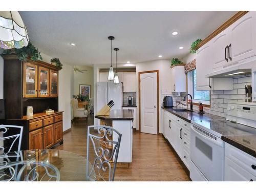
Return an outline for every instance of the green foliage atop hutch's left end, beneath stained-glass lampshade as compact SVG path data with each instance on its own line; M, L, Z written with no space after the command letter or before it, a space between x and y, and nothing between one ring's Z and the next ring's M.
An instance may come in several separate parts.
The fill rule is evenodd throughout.
M17 58L21 61L27 61L28 57L30 57L30 59L33 61L42 60L41 52L39 52L38 49L31 44L31 42L29 42L27 47L5 50L3 54L12 53L17 54Z

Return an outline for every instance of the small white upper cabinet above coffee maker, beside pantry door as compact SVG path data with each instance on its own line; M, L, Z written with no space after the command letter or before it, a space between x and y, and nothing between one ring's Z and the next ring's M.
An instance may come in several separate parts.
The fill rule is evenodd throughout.
M123 73L123 92L136 92L136 72Z

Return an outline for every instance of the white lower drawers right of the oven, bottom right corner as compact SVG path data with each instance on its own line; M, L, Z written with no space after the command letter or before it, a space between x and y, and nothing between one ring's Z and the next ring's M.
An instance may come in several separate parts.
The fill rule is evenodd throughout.
M225 143L224 181L256 181L256 158Z

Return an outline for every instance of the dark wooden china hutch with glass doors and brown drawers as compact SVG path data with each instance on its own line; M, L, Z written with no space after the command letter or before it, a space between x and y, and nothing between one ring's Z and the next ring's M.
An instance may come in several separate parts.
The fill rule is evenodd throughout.
M58 111L59 69L43 61L20 61L13 54L2 56L5 123L24 127L22 150L63 143L62 112ZM27 106L33 107L33 115L26 115ZM44 112L47 109L54 112L47 114Z

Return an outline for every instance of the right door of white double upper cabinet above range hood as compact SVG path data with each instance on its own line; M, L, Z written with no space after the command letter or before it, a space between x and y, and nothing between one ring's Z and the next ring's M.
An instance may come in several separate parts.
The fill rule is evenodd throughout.
M256 55L256 13L250 11L230 27L229 60L236 62Z

